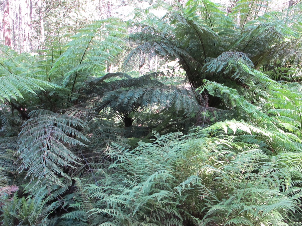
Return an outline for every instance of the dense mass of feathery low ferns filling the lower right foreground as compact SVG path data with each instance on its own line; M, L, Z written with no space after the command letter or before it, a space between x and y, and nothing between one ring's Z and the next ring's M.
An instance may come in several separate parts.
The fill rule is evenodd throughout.
M300 211L300 153L269 156L234 137L170 133L114 159L84 189L100 225L288 225ZM236 150L240 149L240 152ZM293 179L293 177L295 179ZM83 181L82 181L83 183Z

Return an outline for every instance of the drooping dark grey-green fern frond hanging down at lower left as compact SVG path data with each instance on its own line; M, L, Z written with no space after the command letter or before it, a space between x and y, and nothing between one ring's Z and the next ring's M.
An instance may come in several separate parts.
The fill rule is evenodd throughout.
M75 168L79 159L70 148L83 146L87 138L75 128L84 124L76 118L47 111L32 111L31 119L19 134L20 170L35 184L33 189L49 181L63 186L60 178L71 180L68 168Z

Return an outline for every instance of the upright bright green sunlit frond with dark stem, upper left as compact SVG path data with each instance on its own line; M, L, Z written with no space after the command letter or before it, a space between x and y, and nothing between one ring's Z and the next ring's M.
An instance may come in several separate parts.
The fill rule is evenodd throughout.
M122 51L119 45L123 43L121 38L125 32L123 22L116 18L95 21L79 30L66 45L66 52L54 62L49 72L50 78L58 77L58 74L63 76L62 85L68 84L73 93L77 83L94 75L94 70L103 71L111 58ZM75 45L77 48L74 48Z

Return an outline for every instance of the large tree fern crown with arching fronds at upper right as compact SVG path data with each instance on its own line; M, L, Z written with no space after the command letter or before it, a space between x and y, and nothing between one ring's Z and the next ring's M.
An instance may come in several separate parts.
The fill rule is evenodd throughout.
M249 93L255 83L245 67L275 79L288 77L291 68L300 70L300 7L271 12L264 2L238 1L226 9L200 0L178 5L179 10L167 8L162 18L142 11L132 21L137 32L130 36L139 45L126 63L137 55L141 61L159 55L178 61L195 89L207 79ZM223 107L217 98L204 96L201 104Z

